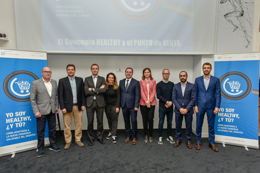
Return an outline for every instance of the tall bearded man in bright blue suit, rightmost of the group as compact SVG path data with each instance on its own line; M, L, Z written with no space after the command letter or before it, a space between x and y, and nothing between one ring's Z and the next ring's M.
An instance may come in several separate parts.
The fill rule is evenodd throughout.
M194 111L197 114L196 121L196 146L197 150L200 150L201 131L203 125L203 119L205 112L207 112L208 125L209 125L209 147L218 152L218 148L215 146L215 117L220 109L221 91L219 78L210 75L212 70L210 63L204 63L202 66L204 75L195 79L196 90L196 103Z

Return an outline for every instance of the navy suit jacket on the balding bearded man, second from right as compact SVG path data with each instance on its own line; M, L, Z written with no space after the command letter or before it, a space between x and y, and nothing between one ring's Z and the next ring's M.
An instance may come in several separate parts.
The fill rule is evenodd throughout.
M194 114L193 106L196 101L196 90L194 84L187 82L184 95L182 95L181 82L174 85L172 89L172 103L174 104L174 112L181 114L180 108L189 109L186 115ZM183 104L183 106L182 106Z

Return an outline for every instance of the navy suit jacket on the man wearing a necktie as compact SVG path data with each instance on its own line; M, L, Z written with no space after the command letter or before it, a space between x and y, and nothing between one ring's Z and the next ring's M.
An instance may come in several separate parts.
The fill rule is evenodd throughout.
M138 80L131 79L127 91L125 90L125 80L120 80L119 87L121 90L121 101L120 106L123 108L139 108L141 88Z

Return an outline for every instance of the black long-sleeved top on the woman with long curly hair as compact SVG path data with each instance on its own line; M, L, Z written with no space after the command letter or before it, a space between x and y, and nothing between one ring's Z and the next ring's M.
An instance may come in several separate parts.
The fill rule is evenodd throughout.
M117 108L120 107L121 92L119 87L117 90L114 90L113 85L108 85L108 88L104 93L104 97L106 105L116 106Z

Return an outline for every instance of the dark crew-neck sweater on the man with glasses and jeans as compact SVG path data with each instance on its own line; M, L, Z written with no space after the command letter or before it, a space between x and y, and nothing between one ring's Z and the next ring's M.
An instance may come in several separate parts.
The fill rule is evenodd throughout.
M157 99L159 99L159 107L165 107L165 104L167 101L172 101L172 89L173 89L174 83L173 82L158 82L156 85L156 96ZM171 109L173 106L170 107Z

